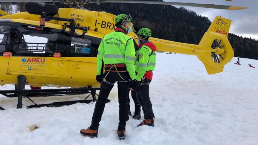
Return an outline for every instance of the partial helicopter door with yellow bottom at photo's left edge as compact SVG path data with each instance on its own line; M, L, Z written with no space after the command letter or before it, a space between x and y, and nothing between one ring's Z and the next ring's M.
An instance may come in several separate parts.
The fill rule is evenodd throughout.
M9 55L6 53L10 46L10 30L10 25L0 25L0 71L5 72L9 62Z

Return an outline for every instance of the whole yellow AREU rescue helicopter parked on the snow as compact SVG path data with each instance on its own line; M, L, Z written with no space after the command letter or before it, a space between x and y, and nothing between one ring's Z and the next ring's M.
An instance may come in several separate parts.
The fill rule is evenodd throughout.
M76 8L58 9L55 5L37 2L49 1L28 2L25 5L27 12L8 14L0 11L0 85L16 85L16 90L0 91L0 94L7 97L18 96L17 108L22 108L22 96L40 96L48 93L91 93L93 101L96 101L95 92L99 89L99 84L95 80L98 46L101 38L114 30L116 16ZM239 6L155 1L66 0L64 3L75 4L80 8L85 3L99 5L105 2L245 9ZM215 74L222 72L224 65L234 56L228 40L230 24L231 20L215 17L198 45L152 37L149 40L157 46L158 52L196 55L204 64L207 73ZM134 32L128 35L137 39L133 24L131 27ZM68 86L77 89L25 90L25 85ZM35 105L39 107L36 103Z

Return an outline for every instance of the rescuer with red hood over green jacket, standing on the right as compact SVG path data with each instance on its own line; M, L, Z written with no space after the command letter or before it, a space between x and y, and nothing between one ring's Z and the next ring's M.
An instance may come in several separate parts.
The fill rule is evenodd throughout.
M142 28L138 31L139 50L137 52L137 60L135 63L135 71L137 72L136 81L140 82L140 86L136 89L138 103L143 108L144 119L139 125L154 126L154 113L149 96L149 85L152 80L152 71L156 64L156 46L149 42L151 30ZM140 112L139 114L140 115Z

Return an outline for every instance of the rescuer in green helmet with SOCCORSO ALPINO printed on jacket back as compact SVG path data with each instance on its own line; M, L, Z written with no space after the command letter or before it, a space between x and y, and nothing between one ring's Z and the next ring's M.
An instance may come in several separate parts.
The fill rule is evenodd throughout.
M88 129L81 129L80 134L89 137L98 136L99 122L104 111L108 95L117 82L119 101L119 124L117 133L119 139L124 139L128 116L128 90L130 81L136 79L134 66L134 42L127 34L131 31L131 17L120 14L115 18L115 31L105 35L98 49L97 76L100 85L98 101L92 116L92 123ZM102 67L105 72L103 74ZM137 87L137 82L131 84Z

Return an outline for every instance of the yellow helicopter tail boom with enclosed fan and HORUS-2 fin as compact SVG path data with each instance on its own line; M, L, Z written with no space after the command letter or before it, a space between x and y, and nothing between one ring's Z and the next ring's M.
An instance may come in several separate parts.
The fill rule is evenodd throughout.
M233 49L228 40L231 20L215 17L200 43L186 44L158 38L150 38L158 52L173 52L187 55L196 55L204 64L208 74L216 74L223 71L234 56Z

